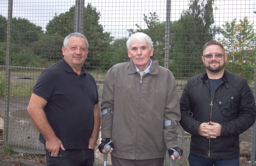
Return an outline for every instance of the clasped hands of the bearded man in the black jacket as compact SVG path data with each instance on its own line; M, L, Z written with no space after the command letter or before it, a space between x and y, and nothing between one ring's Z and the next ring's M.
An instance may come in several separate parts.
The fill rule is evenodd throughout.
M198 133L206 138L217 138L217 136L221 136L221 124L213 122L202 123L199 125Z

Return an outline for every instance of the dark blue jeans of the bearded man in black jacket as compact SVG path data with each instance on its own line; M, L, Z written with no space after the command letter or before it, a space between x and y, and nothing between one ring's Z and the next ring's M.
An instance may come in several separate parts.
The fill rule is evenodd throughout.
M232 159L209 159L189 153L189 166L239 166L239 157Z

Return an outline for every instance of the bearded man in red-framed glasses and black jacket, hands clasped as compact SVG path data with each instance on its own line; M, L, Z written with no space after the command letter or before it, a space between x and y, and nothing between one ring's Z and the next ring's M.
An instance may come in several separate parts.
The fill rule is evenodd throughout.
M191 133L190 166L239 166L239 134L256 118L251 89L244 78L225 71L224 47L204 45L206 73L189 78L180 97L180 124Z

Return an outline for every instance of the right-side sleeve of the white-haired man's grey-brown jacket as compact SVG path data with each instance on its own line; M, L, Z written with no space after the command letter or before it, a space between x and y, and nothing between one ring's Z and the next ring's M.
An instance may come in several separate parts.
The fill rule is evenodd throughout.
M163 127L163 137L167 149L175 147L179 148L179 142L177 141L178 133L176 132L175 121L180 121L180 105L177 85L171 72L167 85L167 97L163 120L171 120L171 125Z

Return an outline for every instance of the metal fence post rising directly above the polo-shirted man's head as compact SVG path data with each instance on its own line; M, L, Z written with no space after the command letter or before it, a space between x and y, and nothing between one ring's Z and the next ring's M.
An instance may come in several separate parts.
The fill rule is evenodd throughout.
M84 11L85 0L76 0L75 7L75 32L84 33Z

